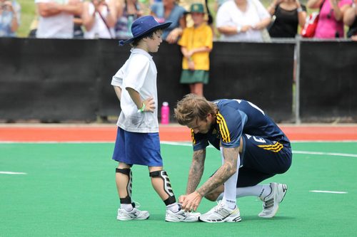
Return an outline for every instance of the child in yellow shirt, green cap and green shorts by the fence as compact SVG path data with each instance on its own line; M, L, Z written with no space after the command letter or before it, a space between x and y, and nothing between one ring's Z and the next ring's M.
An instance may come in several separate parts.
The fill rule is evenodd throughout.
M191 4L193 26L185 28L178 45L183 54L180 83L189 84L190 91L203 95L203 84L209 79L209 53L213 48L212 29L206 23L203 4Z

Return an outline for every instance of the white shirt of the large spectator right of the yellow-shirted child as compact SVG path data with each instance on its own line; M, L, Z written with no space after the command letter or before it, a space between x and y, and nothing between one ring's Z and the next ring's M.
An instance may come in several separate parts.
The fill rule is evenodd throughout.
M218 9L216 27L221 26L253 26L262 19L270 17L268 11L258 0L248 0L246 11L238 9L234 0L226 1ZM234 35L221 35L221 41L263 41L261 31L249 30Z

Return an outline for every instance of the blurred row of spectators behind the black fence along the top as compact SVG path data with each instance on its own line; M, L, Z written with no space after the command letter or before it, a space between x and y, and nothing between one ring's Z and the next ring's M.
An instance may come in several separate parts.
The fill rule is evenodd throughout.
M30 0L29 0L30 1ZM202 4L204 21L213 39L221 41L269 41L295 38L318 11L315 38L357 38L357 0L273 0L265 7L259 0L33 0L36 17L29 36L36 38L131 37L131 23L152 15L171 21L163 38L177 43L183 29L193 26L192 4ZM213 0L214 1L214 0ZM209 7L208 7L209 5ZM16 37L21 6L16 0L0 0L0 37Z

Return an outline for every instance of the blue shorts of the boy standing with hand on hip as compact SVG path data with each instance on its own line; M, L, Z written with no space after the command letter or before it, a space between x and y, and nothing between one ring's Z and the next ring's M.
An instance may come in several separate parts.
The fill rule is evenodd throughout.
M129 165L162 167L159 132L128 132L118 127L113 159Z

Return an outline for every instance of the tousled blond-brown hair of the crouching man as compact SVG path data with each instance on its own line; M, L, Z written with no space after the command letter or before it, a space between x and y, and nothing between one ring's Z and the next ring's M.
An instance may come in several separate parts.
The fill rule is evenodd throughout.
M180 125L188 125L197 118L205 120L208 114L215 115L218 108L215 103L203 96L188 94L177 102L175 117Z

